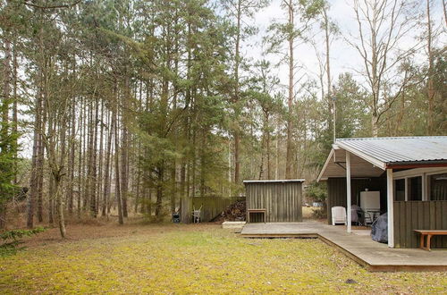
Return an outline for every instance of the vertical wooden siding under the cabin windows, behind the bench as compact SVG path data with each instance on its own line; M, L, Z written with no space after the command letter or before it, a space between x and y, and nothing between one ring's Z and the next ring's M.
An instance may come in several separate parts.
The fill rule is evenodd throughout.
M414 230L447 230L447 201L394 202L394 246L418 248ZM432 248L447 248L447 237L432 238Z

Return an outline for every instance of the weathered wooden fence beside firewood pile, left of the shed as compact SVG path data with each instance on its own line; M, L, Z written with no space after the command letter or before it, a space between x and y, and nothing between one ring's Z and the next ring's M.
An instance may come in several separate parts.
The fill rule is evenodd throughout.
M191 200L190 215L192 216L194 208L198 210L201 206L200 218L202 222L208 222L220 215L227 206L245 201L245 197L194 197Z

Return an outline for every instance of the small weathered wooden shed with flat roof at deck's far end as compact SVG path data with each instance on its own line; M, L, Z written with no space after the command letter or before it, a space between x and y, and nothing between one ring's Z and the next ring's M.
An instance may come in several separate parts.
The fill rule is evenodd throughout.
M301 222L303 181L244 181L247 191L247 221Z

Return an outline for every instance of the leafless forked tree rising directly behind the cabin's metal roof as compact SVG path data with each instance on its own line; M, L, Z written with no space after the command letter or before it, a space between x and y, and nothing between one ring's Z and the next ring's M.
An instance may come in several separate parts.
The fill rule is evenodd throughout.
M411 14L415 13L415 7L405 0L355 0L353 4L358 35L348 42L362 59L363 70L356 72L367 81L371 132L375 137L382 116L390 110L409 80L402 79L397 71L419 46L418 42L407 48L401 46L417 24Z

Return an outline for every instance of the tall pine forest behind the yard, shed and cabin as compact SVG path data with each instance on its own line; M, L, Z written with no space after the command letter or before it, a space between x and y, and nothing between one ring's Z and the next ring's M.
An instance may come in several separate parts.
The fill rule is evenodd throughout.
M0 228L17 212L63 235L64 215L160 220L249 179L315 188L333 130L447 134L443 0L353 0L355 33L331 1L276 3L260 31L269 1L0 1ZM335 77L333 40L361 66Z

